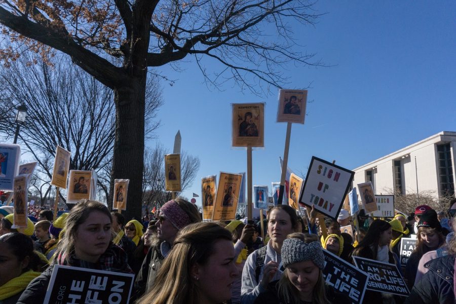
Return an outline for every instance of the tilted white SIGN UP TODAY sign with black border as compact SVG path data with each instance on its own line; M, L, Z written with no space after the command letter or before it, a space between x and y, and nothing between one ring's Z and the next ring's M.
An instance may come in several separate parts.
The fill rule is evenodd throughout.
M299 203L315 206L316 211L337 220L354 175L353 171L313 156Z

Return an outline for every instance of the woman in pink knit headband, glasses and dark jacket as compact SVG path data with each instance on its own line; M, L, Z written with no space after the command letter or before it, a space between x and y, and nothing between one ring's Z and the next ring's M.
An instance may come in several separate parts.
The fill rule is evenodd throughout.
M135 281L136 296L140 297L154 288L157 273L170 252L177 233L188 224L200 221L201 216L197 207L182 198L171 200L160 208L156 223L157 237L160 241L150 247L142 262Z

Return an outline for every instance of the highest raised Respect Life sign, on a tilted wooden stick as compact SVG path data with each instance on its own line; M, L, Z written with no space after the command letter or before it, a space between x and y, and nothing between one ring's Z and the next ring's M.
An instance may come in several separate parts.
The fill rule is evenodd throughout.
M307 90L279 90L277 122L303 124L306 116Z

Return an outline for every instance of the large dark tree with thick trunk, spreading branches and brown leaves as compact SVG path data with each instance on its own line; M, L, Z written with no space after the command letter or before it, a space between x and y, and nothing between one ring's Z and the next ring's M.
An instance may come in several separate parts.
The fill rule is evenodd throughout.
M130 209L139 216L144 159L147 68L194 57L206 81L234 81L256 94L288 81L282 65L311 62L289 22L314 24L308 0L3 1L0 23L9 40L48 58L61 51L114 91L113 178L129 178ZM19 52L0 52L9 63ZM203 58L207 58L207 70ZM162 75L163 76L163 75ZM112 194L112 192L111 192Z

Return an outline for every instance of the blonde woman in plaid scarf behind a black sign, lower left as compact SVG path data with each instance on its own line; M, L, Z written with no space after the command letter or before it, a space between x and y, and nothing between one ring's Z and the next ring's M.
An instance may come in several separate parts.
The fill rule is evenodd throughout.
M53 265L133 273L126 253L111 242L111 213L97 201L84 200L68 213L51 266L22 293L18 303L43 303Z

